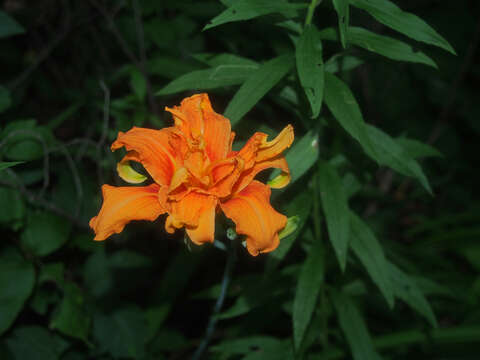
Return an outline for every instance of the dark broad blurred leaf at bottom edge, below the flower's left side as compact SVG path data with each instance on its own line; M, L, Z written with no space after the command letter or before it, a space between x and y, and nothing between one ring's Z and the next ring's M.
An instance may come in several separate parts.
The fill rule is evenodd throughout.
M145 356L147 322L138 308L124 308L108 315L96 314L93 335L100 348L114 358L140 359Z

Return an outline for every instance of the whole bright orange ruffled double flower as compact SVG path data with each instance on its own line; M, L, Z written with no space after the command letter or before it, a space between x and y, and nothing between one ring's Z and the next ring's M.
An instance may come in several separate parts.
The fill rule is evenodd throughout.
M237 233L246 235L250 254L274 250L287 218L270 205L270 187L281 188L290 181L281 153L293 142L292 126L285 127L272 141L267 141L267 134L257 132L240 151L232 151L235 133L230 121L212 109L207 94L191 96L166 110L173 114L173 127L134 127L119 132L112 144L112 151L127 150L117 166L122 179L129 183L146 180L130 167L129 162L136 161L154 183L103 185L102 208L90 220L95 240L120 233L132 220L153 221L168 213L167 232L184 227L195 244L213 242L215 214L221 209L236 224ZM282 171L270 187L254 180L268 168Z

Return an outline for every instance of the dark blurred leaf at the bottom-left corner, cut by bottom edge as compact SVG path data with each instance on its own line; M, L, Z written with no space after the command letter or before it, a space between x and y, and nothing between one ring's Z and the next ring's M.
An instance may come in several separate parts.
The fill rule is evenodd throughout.
M65 340L40 326L16 328L6 343L15 360L56 360L68 347Z

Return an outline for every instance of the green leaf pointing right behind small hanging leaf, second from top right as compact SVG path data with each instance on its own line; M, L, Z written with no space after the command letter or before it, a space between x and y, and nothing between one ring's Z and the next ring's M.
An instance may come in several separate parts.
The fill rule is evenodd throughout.
M320 32L324 40L338 41L338 34L333 28ZM350 26L348 28L348 41L368 51L385 56L392 60L420 63L437 68L437 64L421 51L403 41L375 34L363 28Z

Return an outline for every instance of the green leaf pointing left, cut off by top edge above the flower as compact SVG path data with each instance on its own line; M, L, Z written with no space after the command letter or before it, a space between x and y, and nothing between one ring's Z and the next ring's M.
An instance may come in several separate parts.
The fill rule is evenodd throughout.
M305 4L291 4L286 0L236 0L229 4L229 7L221 14L210 20L203 30L229 22L250 20L268 14L281 14L289 18L295 16L299 9L305 7Z

